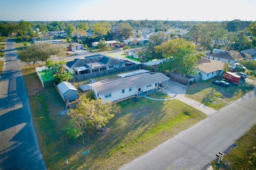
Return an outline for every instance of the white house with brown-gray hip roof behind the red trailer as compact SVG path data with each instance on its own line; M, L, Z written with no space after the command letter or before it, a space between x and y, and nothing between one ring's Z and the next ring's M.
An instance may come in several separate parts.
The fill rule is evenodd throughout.
M233 65L234 63L239 62L239 60L252 58L252 55L230 50L226 52L218 52L215 54L207 54L206 58L220 62L230 62Z

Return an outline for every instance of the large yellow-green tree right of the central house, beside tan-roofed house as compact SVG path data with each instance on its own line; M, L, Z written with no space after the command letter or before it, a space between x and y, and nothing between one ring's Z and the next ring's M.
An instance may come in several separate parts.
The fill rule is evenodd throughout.
M156 50L166 58L160 69L168 72L176 71L182 76L196 73L198 60L204 56L196 51L193 42L186 42L182 38L168 40L168 42L156 46Z

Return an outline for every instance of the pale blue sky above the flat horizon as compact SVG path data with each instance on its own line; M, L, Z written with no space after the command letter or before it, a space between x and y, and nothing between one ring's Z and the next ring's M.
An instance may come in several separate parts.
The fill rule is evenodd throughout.
M255 21L256 0L0 0L0 20Z

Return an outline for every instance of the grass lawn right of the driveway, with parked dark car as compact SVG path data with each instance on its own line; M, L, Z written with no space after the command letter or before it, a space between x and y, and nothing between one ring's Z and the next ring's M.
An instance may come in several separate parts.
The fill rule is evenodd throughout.
M209 80L188 85L186 97L196 100L215 110L220 110L222 107L231 104L254 88L247 83L230 83L228 87L223 87L212 84L213 80L217 80L217 78L211 78Z

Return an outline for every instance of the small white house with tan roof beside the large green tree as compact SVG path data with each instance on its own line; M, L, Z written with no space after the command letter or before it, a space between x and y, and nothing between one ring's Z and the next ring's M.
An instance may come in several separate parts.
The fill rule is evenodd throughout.
M222 74L224 64L220 61L202 58L198 61L198 74L202 76L202 80L208 80Z

